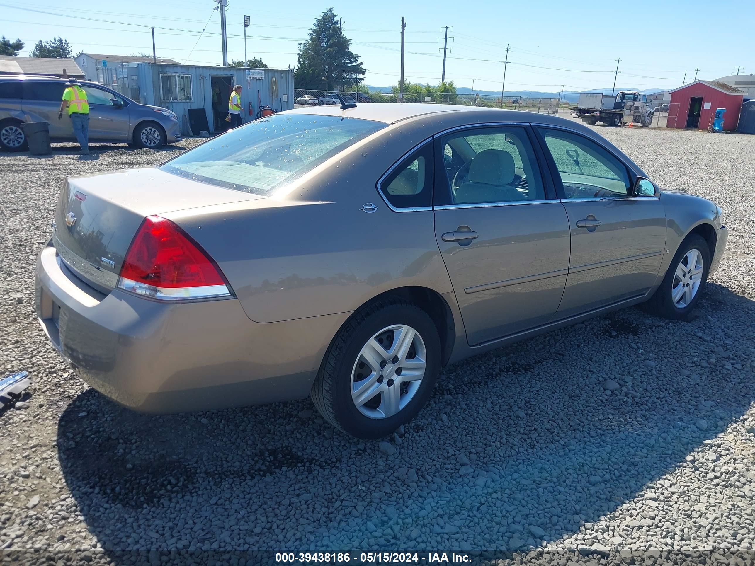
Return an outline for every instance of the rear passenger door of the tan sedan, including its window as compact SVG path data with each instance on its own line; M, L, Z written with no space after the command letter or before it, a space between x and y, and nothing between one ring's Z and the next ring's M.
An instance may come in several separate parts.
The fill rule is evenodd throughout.
M459 131L441 138L441 151L436 240L468 343L544 325L566 282L569 224L561 203L548 198L528 132Z

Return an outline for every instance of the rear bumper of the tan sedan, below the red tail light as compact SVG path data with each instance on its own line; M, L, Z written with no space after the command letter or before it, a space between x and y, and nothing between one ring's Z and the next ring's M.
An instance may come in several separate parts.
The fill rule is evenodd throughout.
M73 275L52 245L39 254L35 287L40 324L79 377L153 413L306 397L348 317L258 324L235 298L165 304L119 290L103 295Z

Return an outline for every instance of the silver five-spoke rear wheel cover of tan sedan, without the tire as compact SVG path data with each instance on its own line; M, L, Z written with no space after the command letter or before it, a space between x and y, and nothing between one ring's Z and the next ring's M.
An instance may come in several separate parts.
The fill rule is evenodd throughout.
M351 398L360 413L384 419L399 413L420 389L427 349L420 334L393 325L374 334L354 362Z

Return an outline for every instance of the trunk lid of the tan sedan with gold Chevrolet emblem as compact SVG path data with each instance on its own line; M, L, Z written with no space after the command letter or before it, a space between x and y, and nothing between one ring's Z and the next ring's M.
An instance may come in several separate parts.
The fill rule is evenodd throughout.
M199 183L159 168L70 177L55 211L53 243L84 281L112 291L131 240L145 217L264 198Z

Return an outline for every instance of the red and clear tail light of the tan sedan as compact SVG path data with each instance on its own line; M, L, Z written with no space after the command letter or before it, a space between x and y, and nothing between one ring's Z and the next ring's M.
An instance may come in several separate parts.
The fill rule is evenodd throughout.
M128 248L118 286L160 300L230 297L217 265L167 218L146 217Z

